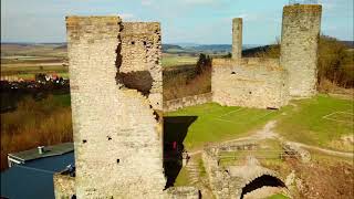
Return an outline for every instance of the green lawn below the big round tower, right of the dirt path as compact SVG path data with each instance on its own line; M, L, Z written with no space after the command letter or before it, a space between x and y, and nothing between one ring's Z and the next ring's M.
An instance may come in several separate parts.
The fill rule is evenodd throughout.
M278 133L290 140L345 150L331 142L353 135L353 101L317 95L292 103L295 106L284 107L287 115L279 117Z

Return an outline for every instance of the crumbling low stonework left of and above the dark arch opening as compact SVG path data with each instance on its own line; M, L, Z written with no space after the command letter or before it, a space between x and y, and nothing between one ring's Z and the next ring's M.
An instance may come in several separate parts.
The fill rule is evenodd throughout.
M254 179L264 175L278 178L273 170L260 166L254 157L248 157L241 166L230 166L223 169L219 165L220 151L252 150L257 145L252 142L236 142L230 144L206 147L202 151L202 161L207 171L210 188L217 199L240 198L242 188Z

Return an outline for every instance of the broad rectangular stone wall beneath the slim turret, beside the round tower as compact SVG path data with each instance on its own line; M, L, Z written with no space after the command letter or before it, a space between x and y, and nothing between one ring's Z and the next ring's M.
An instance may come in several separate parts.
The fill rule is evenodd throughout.
M278 60L212 60L212 101L227 106L279 108L288 104L287 71Z

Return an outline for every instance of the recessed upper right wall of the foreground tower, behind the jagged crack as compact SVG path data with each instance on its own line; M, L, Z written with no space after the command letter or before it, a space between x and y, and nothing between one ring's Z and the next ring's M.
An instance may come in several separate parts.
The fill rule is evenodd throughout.
M158 22L124 22L121 76L125 84L148 93L155 109L163 109L162 35ZM134 77L136 76L136 77Z

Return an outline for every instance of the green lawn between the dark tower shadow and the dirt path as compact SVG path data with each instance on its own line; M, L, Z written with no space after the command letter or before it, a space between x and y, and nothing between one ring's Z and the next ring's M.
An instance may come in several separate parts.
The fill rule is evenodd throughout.
M184 140L187 149L195 149L202 147L206 143L246 136L247 133L261 127L279 113L277 111L228 107L208 103L171 112L166 116L197 117L189 126Z

